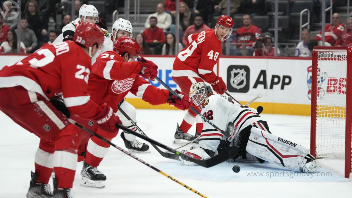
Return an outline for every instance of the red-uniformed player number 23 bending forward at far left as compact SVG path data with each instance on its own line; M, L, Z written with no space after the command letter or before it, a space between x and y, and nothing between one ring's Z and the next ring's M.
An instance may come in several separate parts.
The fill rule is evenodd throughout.
M83 22L66 41L44 48L1 70L1 111L40 138L27 197L70 197L80 143L77 127L57 110L50 99L62 95L71 114L95 119L99 128L117 132L118 117L111 107L102 109L90 100L90 57L103 44L99 26ZM73 86L74 85L74 86ZM55 170L54 195L48 185Z

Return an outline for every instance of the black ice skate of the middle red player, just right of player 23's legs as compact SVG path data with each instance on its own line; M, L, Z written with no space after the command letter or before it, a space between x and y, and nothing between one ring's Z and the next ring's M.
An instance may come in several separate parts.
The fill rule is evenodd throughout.
M81 186L94 188L105 187L104 181L106 180L106 176L103 174L103 172L99 171L97 167L90 166L85 161L83 161L81 176Z

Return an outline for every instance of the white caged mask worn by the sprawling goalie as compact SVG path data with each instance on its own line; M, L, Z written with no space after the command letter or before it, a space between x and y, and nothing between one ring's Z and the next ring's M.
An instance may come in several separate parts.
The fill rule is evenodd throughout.
M193 103L197 106L203 105L206 98L213 95L213 90L209 85L204 82L194 83L189 91L189 96L193 100Z

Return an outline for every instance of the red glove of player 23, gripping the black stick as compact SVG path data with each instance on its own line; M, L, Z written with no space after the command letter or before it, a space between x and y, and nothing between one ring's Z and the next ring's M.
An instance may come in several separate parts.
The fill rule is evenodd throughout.
M106 103L101 108L103 109L98 115L94 117L100 129L108 132L117 132L119 128L116 127L116 123L121 124L121 120Z

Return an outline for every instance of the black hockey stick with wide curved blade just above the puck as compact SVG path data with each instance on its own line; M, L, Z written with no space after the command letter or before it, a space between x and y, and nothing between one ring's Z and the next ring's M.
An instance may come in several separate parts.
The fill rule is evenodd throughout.
M126 126L124 125L121 125L121 124L116 124L116 127L117 128L120 128L124 131L127 131L128 133L132 134L132 135L135 135L147 142L150 142L150 143L153 143L155 144L156 146L158 147L161 147L163 149L166 149L168 151L171 151L172 153L178 155L178 156L181 156L183 159L186 159L188 161L191 161L191 162L194 162L196 163L197 165L200 165L200 166L203 166L203 167L206 167L206 168L209 168L209 167L212 167L212 166L215 166L221 162L224 162L226 161L227 159L230 159L232 156L236 155L238 153L238 148L237 147L229 147L227 149L225 149L224 151L222 151L221 153L219 153L218 155L208 159L208 160L197 160L197 159L194 159L193 157L190 157L190 156L187 156L183 153L180 153L180 151L177 151L173 148L170 148L162 143L159 143L149 137L146 137L138 132L135 132L131 129L128 129ZM229 130L231 130L231 127L227 127L228 130L226 130L227 132L230 133ZM232 128L232 131L233 131L233 128Z

